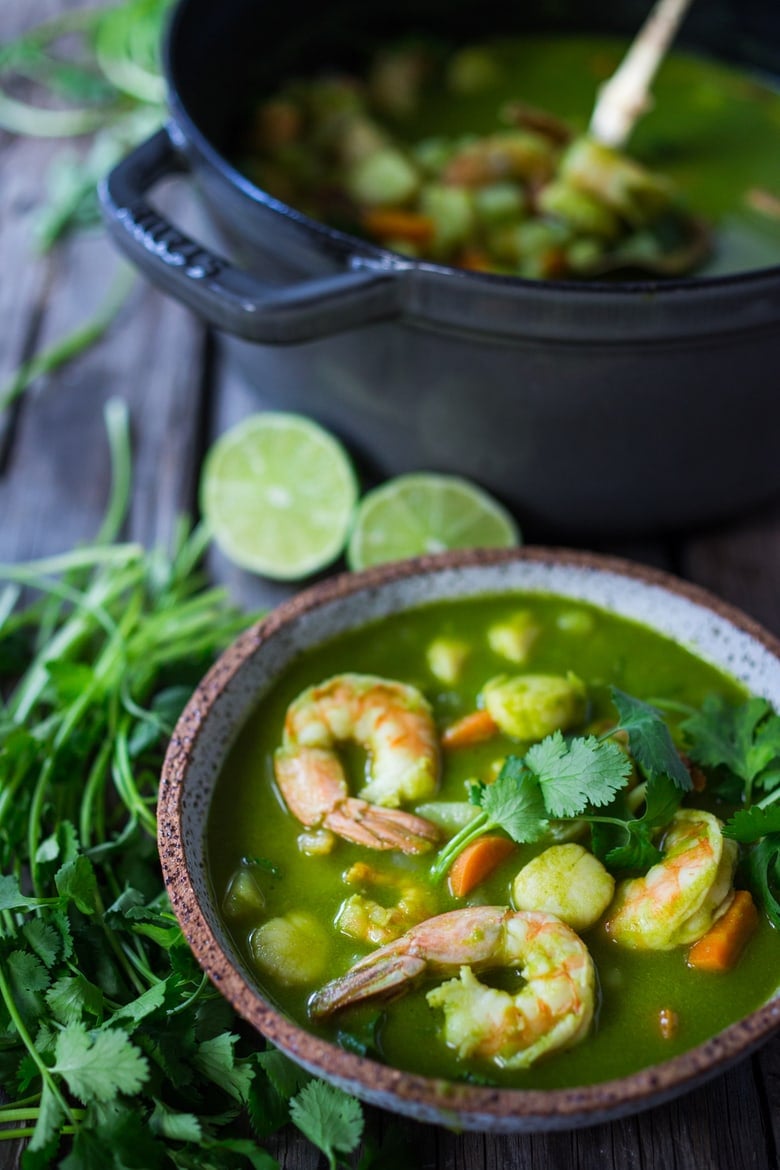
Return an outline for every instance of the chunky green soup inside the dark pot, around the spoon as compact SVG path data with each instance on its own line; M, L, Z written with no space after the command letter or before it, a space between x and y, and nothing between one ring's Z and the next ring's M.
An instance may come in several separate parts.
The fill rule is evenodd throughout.
M570 278L780 263L768 78L672 53L628 146L642 178L581 145L624 50L538 36L455 54L400 46L365 77L294 80L263 97L239 165L333 227L468 268ZM709 245L689 216L710 226Z

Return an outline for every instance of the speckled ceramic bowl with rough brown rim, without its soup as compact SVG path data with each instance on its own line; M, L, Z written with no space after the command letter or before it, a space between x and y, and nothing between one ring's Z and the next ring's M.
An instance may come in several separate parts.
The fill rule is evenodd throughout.
M386 1067L309 1034L258 990L221 923L206 824L223 760L258 698L302 651L387 614L446 598L531 591L585 600L688 646L780 708L780 642L744 614L664 573L558 550L448 553L343 576L247 631L216 662L173 735L159 849L195 957L234 1009L304 1068L420 1121L493 1133L572 1128L657 1104L723 1072L780 1026L780 994L698 1047L620 1080L551 1090L454 1085Z

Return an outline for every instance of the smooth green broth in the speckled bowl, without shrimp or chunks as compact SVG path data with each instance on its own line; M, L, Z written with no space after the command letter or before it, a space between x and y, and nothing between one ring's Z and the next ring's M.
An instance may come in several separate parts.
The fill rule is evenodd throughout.
M243 858L271 862L276 874L258 869L267 904L262 916L244 918L232 931L249 968L251 930L265 918L305 909L320 923L332 923L352 892L345 870L371 851L339 840L325 856L298 851L302 826L287 812L274 783L272 753L282 738L290 701L306 686L340 672L364 672L417 686L444 727L472 710L486 679L513 669L493 653L485 629L518 610L530 611L541 634L527 663L519 669L565 673L573 670L587 684L591 716L608 714L606 688L644 698L677 700L698 706L705 695L739 701L744 691L713 667L681 646L637 624L598 608L546 596L513 596L447 601L392 615L375 625L334 639L297 659L262 701L242 730L219 778L208 824L208 853L218 901ZM574 620L572 620L574 619ZM454 636L474 649L457 686L443 686L430 673L426 648L434 638ZM437 799L465 799L469 778L486 778L491 764L517 744L508 737L453 751L444 757ZM353 771L363 760L351 760ZM353 777L358 780L358 777ZM511 879L520 865L545 846L519 846L502 867L465 900L454 899L446 883L437 887L436 913L464 904L508 904ZM372 865L396 876L426 882L430 855L371 853ZM329 936L325 976L303 987L287 987L257 976L258 986L294 1019L332 1040L371 1037L380 1059L414 1072L462 1079L469 1072L502 1085L559 1087L620 1076L658 1062L698 1044L765 1002L776 987L780 937L762 920L758 932L733 971L709 975L692 971L685 949L634 952L610 942L596 924L582 936L593 955L600 984L599 1007L589 1035L561 1055L551 1054L527 1072L501 1072L478 1062L458 1061L439 1037L439 1013L424 999L426 987L412 990L389 1004L347 1009L333 1019L312 1025L306 1000L326 979L347 970L371 949L336 930ZM455 973L455 972L454 972ZM662 1039L658 1012L679 1017L674 1039ZM345 1039L346 1035L346 1039Z

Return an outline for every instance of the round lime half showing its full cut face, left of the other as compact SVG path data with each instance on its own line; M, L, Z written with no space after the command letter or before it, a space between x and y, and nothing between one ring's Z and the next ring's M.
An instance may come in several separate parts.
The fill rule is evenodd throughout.
M269 411L218 439L200 497L226 556L263 577L296 580L343 551L358 486L327 431L299 414Z

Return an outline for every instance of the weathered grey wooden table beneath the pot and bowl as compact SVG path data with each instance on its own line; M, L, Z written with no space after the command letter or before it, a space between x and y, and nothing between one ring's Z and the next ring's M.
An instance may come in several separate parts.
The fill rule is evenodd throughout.
M63 6L69 7L62 0L2 0L0 41ZM0 385L21 360L97 310L117 269L99 230L47 256L35 253L33 225L57 149L0 133ZM180 221L196 215L186 192L171 191L168 199ZM210 439L263 405L198 321L138 281L98 345L40 379L0 415L0 560L64 551L97 531L109 479L103 406L111 397L124 399L132 419L126 536L150 545L166 541L179 514L196 510L199 468ZM600 548L697 581L780 633L780 507L709 531ZM272 605L287 592L218 555L210 571L248 607ZM370 1113L375 1127L389 1122ZM705 1087L613 1124L527 1137L399 1124L420 1164L432 1170L768 1170L780 1166L780 1038ZM275 1152L287 1170L318 1165L313 1148L292 1131Z

